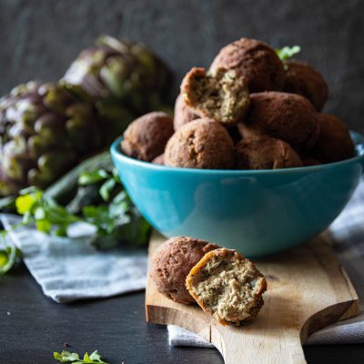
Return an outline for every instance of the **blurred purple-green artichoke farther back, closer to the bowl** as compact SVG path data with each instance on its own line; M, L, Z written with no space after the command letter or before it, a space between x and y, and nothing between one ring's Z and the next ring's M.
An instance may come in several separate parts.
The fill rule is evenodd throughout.
M96 45L77 56L60 83L94 103L108 129L120 133L120 119L164 106L171 74L145 45L108 35L99 37Z

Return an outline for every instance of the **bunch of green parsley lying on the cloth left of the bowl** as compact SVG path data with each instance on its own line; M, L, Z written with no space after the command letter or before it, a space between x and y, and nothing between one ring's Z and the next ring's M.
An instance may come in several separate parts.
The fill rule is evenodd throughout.
M66 237L70 225L84 222L95 227L91 244L98 249L147 244L150 226L127 196L116 170L83 172L77 185L76 196L66 207L36 187L20 191L15 207L23 218L15 227L33 224L45 234ZM0 274L12 268L20 256L19 250L6 242L5 234L1 231Z

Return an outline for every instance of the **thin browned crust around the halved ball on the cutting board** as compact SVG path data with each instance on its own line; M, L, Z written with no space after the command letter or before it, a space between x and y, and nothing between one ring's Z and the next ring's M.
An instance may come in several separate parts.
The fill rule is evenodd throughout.
M213 316L213 311L210 308L206 307L203 304L203 302L201 302L201 300L198 299L197 295L193 291L193 284L195 282L196 277L201 272L202 268L204 268L207 265L207 262L211 258L226 257L226 256L231 255L231 254L233 254L234 256L239 258L240 260L249 262L249 260L247 258L245 258L241 254L239 254L238 251L236 251L236 250L227 249L227 248L218 248L218 249L209 251L207 254L205 254L205 256L203 258L201 258L199 260L199 262L195 265L195 267L193 267L190 270L190 272L189 272L189 274L188 274L188 276L186 278L186 287L187 287L187 290L188 290L189 294L193 298L195 298L198 306L200 308L202 308L210 316ZM254 263L252 263L252 262L250 262L250 263L252 264L253 268L257 271L257 278L262 278L262 279L259 279L259 281L258 281L259 282L258 292L257 292L256 297L255 297L256 305L250 311L250 318L246 319L244 321L255 319L257 317L260 308L262 308L262 306L264 304L262 295L267 290L267 280L266 280L266 278L264 278L264 276L260 273L258 268L256 268L256 266L254 265ZM240 326L243 323L243 321L231 322L231 321L226 321L226 320L223 320L223 319L217 319L217 322L219 324L223 325L223 326L226 326L226 325Z

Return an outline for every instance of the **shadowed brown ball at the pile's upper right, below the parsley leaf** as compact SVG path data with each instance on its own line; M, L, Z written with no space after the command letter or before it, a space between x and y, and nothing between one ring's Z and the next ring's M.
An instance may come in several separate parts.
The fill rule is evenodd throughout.
M323 76L307 63L288 59L285 61L286 79L285 92L305 96L321 111L329 96L329 87Z

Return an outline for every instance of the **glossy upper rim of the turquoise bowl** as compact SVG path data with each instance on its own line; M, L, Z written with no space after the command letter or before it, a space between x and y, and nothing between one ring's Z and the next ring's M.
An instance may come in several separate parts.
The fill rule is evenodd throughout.
M116 140L110 147L110 153L112 157L115 157L118 160L127 163L128 165L143 167L148 170L156 170L165 173L176 172L176 173L195 174L195 175L213 174L213 175L231 175L231 176L292 174L292 173L306 173L306 172L327 170L330 168L345 166L357 162L364 165L364 136L352 130L350 130L350 136L356 147L357 155L355 157L340 160L339 162L321 164L318 166L290 167L290 168L278 168L278 169L202 169L202 168L168 167L163 165L157 165L154 163L126 156L122 152L120 146L120 143L124 139L123 136L119 136L116 138Z

